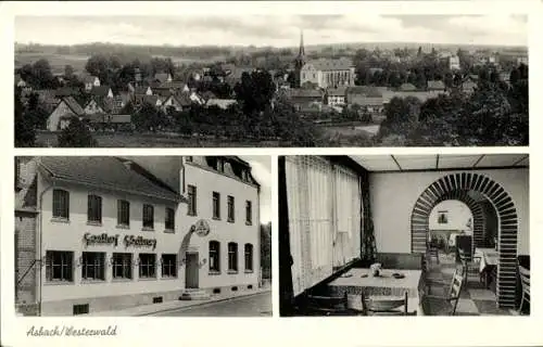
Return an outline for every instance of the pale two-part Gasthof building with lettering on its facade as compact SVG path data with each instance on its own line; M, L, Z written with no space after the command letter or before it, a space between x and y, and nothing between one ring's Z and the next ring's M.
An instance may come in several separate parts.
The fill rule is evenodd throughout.
M258 287L260 185L239 157L17 157L15 169L20 313Z

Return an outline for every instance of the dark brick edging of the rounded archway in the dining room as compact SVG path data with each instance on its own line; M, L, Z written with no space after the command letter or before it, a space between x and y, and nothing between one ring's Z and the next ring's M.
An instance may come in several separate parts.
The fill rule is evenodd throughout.
M473 246L483 246L484 213L470 192L484 196L494 207L498 218L497 250L497 304L515 308L516 259L518 218L509 194L491 178L472 172L451 174L431 183L418 197L412 213L412 252L426 253L429 216L432 208L445 200L465 203L473 215Z

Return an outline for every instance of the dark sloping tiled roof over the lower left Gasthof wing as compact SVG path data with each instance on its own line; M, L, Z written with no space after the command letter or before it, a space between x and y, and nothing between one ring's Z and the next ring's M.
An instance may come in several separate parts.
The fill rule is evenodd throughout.
M137 174L119 158L112 156L43 156L40 167L52 180L73 182L180 202L181 196Z

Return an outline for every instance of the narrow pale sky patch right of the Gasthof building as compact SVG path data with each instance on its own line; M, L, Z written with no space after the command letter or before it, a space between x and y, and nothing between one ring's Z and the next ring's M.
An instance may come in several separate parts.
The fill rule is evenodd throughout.
M252 167L254 179L261 184L261 223L272 221L272 157L269 155L240 155Z

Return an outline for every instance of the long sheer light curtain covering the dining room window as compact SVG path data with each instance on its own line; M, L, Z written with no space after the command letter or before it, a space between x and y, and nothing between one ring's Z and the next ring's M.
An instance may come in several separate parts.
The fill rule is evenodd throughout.
M292 286L294 295L361 256L359 176L318 156L287 156Z

